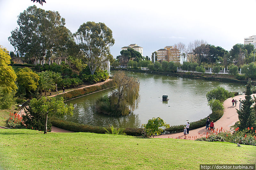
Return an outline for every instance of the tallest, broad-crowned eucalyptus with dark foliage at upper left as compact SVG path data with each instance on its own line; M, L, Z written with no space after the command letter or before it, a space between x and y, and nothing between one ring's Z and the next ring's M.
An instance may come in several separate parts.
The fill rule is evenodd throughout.
M30 6L18 16L18 27L8 38L15 50L30 61L51 60L52 54L68 41L69 31L65 19L58 11L44 11L36 5Z

